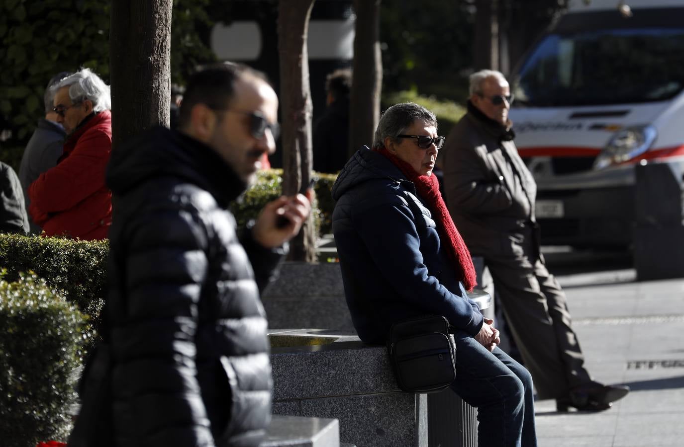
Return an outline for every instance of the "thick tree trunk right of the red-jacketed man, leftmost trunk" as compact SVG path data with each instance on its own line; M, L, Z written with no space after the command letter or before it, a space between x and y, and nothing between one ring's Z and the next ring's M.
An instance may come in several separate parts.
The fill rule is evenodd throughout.
M112 147L169 125L172 0L111 2L109 76Z

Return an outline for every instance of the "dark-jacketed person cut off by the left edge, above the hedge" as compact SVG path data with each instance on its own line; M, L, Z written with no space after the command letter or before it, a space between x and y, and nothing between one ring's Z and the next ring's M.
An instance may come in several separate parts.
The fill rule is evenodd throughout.
M0 233L28 233L29 217L21 182L9 164L0 162Z

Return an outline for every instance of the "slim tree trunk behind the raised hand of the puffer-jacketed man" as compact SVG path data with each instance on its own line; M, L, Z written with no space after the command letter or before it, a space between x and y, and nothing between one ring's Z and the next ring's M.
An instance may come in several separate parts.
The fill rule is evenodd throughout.
M311 88L306 34L314 0L280 0L278 55L280 56L280 110L282 111L282 192L296 194L311 180ZM313 215L291 242L293 261L316 257Z

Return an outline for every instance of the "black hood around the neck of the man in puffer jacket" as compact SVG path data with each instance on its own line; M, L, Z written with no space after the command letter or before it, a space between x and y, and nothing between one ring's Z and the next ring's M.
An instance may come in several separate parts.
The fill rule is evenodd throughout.
M211 147L181 132L157 127L111 152L107 186L124 194L155 177L179 177L209 191L227 207L247 189Z

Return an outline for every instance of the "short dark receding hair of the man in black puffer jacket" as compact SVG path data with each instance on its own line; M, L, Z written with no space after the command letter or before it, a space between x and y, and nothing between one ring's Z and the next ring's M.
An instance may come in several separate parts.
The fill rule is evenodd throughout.
M211 63L196 68L185 87L179 125L183 127L189 122L190 111L196 104L205 104L210 109L224 109L233 100L235 80L245 75L268 83L265 74L242 63Z

